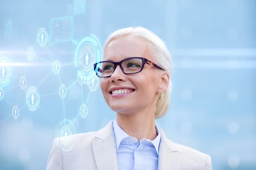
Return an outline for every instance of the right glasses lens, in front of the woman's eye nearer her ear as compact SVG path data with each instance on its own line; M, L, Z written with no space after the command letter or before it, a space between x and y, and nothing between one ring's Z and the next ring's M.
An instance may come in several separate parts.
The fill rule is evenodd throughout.
M122 68L126 74L137 73L142 68L142 59L131 58L122 62Z

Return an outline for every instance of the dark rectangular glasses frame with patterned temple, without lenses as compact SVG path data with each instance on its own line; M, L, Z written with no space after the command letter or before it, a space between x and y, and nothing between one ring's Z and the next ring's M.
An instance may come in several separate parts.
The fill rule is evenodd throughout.
M164 70L163 68L161 68L161 67L159 67L158 65L156 65L154 62L151 62L151 61L149 61L148 59L145 59L144 57L130 57L130 58L123 59L122 61L119 61L119 62L113 62L113 61L101 61L101 62L96 62L95 64L93 64L93 66L94 66L94 71L96 72L96 75L97 75L98 77L101 77L101 76L98 75L98 71L102 73L102 70L101 70L100 68L98 68L98 69L96 70L97 64L104 63L104 62L111 62L111 63L113 63L113 65L114 65L113 73L114 73L115 70L116 70L116 66L119 65L120 68L121 68L121 70L122 70L122 72L123 72L124 74L136 74L136 73L139 73L140 71L138 71L138 72L136 72L136 73L125 73L124 68L122 67L122 62L124 62L125 60L128 60L128 59L136 59L136 58L142 60L142 66L141 66L140 71L143 70L145 64L148 64L148 65L150 65L150 66L159 68L160 70ZM112 74L113 74L113 73L112 73ZM110 76L105 76L105 77L111 77L112 74L111 74Z

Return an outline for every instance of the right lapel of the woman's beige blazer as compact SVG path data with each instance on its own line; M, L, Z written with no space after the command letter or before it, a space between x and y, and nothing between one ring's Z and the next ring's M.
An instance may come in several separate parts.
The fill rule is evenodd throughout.
M175 144L170 141L163 130L161 131L161 142L159 147L158 170L179 170L180 152Z

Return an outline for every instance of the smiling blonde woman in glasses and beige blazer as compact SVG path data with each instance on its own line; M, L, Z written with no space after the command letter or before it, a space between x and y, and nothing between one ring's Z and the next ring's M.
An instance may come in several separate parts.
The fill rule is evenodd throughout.
M172 142L155 125L172 91L172 58L159 37L143 27L113 32L94 70L116 119L97 132L68 136L76 138L69 152L56 138L47 170L212 170L210 156Z

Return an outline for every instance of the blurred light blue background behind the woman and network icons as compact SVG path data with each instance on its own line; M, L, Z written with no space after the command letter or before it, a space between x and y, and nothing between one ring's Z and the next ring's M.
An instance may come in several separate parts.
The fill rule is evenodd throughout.
M76 133L99 130L115 118L100 88L89 92L86 84L72 85L78 71L74 64L61 67L58 75L50 73L53 60L73 62L76 43L36 43L40 28L50 32L51 19L73 16L73 40L78 42L94 34L103 45L108 34L128 26L154 31L174 63L171 107L157 125L173 142L209 154L214 170L255 170L255 10L255 0L1 1L0 57L17 65L11 66L13 76L4 87L10 90L0 101L0 169L44 170L55 124L65 118L74 121ZM8 30L6 19L13 21ZM41 59L28 61L30 46ZM41 109L25 106L27 88L17 86L24 74L28 88L40 85L40 95L52 94L41 96ZM61 84L72 85L65 99L53 94ZM86 100L95 105L88 109L90 119L81 119L79 107ZM12 117L14 105L25 106L18 119Z

